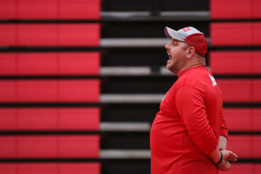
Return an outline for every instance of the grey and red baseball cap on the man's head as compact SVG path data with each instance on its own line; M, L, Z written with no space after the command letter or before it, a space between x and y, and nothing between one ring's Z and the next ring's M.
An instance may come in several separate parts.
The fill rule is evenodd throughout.
M179 41L187 42L187 44L193 46L196 52L202 56L204 56L207 52L207 41L204 34L193 27L185 27L178 31L166 27L165 35L168 38L174 38Z

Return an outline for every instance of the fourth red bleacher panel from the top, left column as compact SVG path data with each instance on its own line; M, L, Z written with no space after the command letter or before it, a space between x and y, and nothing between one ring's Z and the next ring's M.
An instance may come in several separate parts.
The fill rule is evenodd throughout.
M98 102L100 80L0 80L1 103Z

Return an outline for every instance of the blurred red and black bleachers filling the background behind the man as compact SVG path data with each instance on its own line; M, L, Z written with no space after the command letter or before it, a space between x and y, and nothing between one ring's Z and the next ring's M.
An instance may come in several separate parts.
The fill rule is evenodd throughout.
M261 173L260 0L0 0L0 173L149 174L166 26L207 39L239 158L220 173Z

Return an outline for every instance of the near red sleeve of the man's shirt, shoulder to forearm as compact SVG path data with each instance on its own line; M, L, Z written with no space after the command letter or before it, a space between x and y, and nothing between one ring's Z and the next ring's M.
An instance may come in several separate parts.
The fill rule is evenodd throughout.
M176 90L173 102L199 149L205 154L213 152L218 140L208 124L204 92L195 86L182 86Z

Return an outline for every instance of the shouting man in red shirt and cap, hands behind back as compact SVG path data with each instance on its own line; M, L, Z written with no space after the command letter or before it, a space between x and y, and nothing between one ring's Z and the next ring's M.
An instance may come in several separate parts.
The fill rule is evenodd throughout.
M193 27L175 31L166 45L167 68L179 76L161 102L150 133L152 174L217 174L237 155L227 151L223 97L205 67L207 42Z

